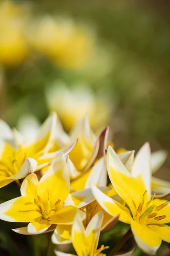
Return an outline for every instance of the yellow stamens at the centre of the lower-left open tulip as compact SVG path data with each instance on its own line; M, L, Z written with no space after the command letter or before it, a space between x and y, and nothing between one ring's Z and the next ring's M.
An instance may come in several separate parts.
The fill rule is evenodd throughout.
M45 220L48 220L48 218L50 218L50 216L53 215L57 211L57 205L61 202L61 200L58 199L56 201L56 203L54 204L54 207L51 207L50 198L51 198L50 189L48 189L48 201L45 205L42 203L42 199L41 199L40 195L37 195L37 198L34 198L34 203L40 208L41 213L42 213L42 218ZM39 219L39 221L40 221L40 219Z

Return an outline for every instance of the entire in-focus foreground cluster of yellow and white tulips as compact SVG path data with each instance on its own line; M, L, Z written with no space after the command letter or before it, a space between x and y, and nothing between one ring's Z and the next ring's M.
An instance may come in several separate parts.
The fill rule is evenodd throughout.
M13 229L23 235L52 232L54 244L72 243L78 256L105 256L100 233L117 221L129 224L128 234L147 254L162 240L170 243L170 183L152 177L166 152L151 154L149 143L135 157L115 151L108 130L94 134L86 115L68 135L52 113L30 144L1 120L0 187L16 182L21 196L0 204L0 219L27 223Z

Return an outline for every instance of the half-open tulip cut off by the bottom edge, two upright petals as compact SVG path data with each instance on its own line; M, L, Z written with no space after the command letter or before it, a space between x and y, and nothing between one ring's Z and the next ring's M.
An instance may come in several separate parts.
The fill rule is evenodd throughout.
M102 253L102 251L108 249L108 246L105 247L102 245L99 249L97 249L102 218L102 212L98 212L96 215L94 215L85 229L79 215L76 215L71 233L73 237L73 246L76 250L77 256L106 256L106 254ZM57 256L73 255L59 251L55 251L55 254Z

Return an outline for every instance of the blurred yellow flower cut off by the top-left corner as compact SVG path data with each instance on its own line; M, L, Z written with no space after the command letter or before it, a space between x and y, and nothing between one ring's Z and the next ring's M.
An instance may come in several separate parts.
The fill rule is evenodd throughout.
M28 53L24 35L24 8L11 1L0 3L0 63L20 64Z

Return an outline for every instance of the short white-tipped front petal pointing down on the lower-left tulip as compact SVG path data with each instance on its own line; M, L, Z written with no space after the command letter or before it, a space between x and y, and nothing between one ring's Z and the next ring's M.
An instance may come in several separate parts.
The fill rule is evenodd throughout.
M30 235L38 235L44 233L51 226L47 220L41 219L28 224L28 233Z

